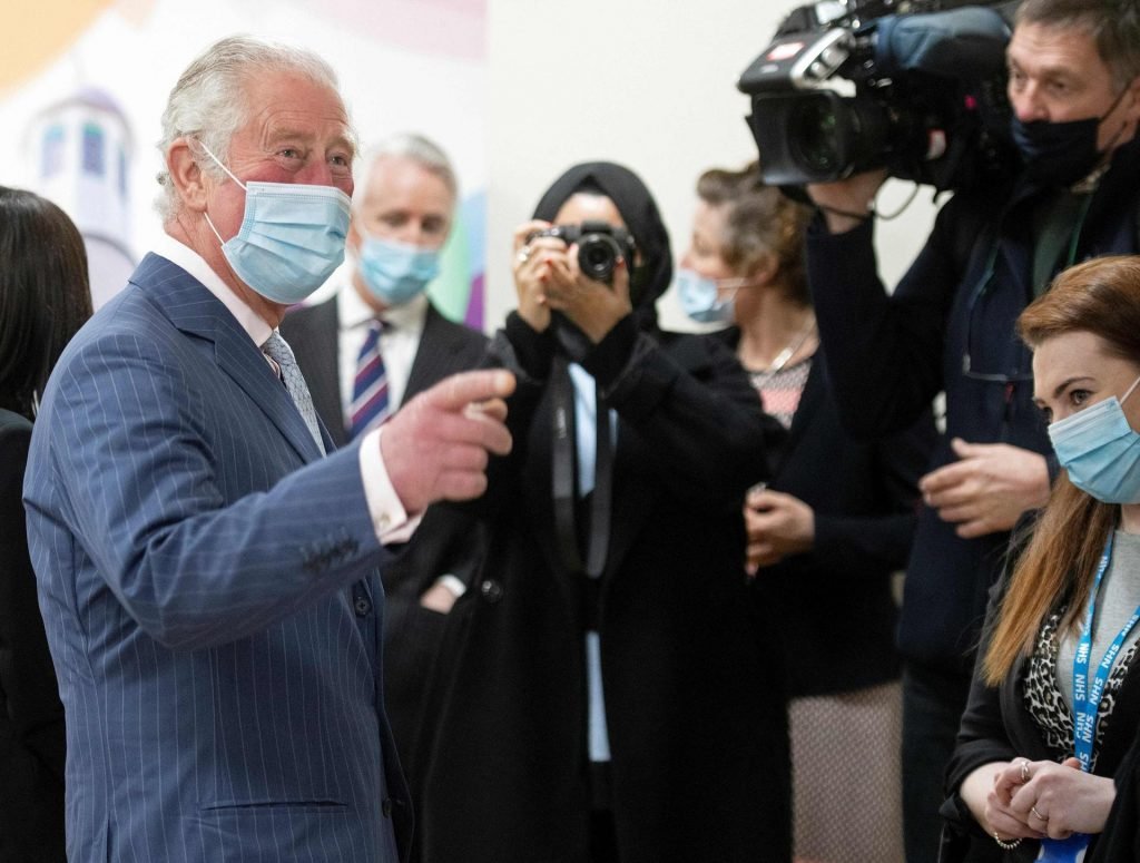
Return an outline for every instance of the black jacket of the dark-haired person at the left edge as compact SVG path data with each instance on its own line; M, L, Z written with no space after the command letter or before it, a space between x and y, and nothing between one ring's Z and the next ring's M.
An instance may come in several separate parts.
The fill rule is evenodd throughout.
M64 706L21 500L31 438L0 409L0 863L64 860Z

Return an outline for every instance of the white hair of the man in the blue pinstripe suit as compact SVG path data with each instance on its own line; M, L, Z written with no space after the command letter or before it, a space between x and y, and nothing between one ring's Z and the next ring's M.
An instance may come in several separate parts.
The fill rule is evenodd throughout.
M229 162L229 144L250 119L252 106L245 98L246 84L258 74L291 72L339 91L336 73L315 52L295 46L254 36L229 36L212 44L194 60L170 91L162 112L163 169L158 172L162 190L155 205L163 221L170 221L181 206L178 192L166 170L166 153L179 138L196 139L210 148L223 164ZM202 154L204 155L204 154ZM204 157L202 170L215 177L222 170Z

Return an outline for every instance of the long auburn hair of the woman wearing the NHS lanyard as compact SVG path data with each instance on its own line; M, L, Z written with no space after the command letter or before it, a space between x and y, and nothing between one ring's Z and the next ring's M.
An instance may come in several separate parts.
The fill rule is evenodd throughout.
M1021 312L1017 328L1033 349L1066 333L1092 333L1110 353L1140 364L1140 257L1098 258L1065 270ZM1064 471L1057 478L1013 567L983 666L986 683L996 686L1032 651L1058 602L1068 603L1060 632L1076 629L1118 508L1078 489Z

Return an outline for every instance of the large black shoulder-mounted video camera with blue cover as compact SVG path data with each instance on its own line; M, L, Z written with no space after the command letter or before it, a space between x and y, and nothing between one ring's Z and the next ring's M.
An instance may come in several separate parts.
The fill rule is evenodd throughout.
M765 181L798 187L885 168L942 192L1008 178L1019 165L1009 38L996 8L961 0L798 7L738 83L751 96Z

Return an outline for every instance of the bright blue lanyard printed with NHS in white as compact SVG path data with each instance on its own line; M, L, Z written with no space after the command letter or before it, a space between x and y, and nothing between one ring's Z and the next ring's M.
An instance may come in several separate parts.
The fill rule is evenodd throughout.
M1124 640L1129 637L1132 627L1140 620L1140 606L1132 612L1124 627L1113 638L1105 656L1101 658L1097 670L1093 674L1092 683L1089 683L1089 666L1092 653L1092 622L1097 612L1097 596L1100 594L1100 583L1108 570L1108 563L1113 559L1113 535L1108 535L1105 543L1105 551L1100 555L1100 563L1097 565L1097 575L1092 580L1092 592L1089 595L1089 608L1084 613L1084 625L1081 627L1081 637L1076 644L1076 656L1073 658L1073 751L1081 762L1081 770L1088 772L1092 765L1092 749L1097 740L1097 709L1100 707L1100 697L1105 692L1108 676L1112 674L1113 663L1116 661ZM1041 856L1039 861L1049 863L1070 863L1084 860L1084 850L1089 845L1086 833L1074 833L1068 839L1042 839Z

